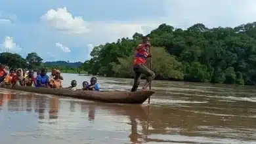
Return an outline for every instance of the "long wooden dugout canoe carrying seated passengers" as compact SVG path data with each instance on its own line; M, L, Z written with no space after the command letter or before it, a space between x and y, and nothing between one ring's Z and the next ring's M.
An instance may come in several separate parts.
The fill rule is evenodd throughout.
M141 104L150 98L155 92L96 92L96 91L72 91L65 88L35 88L30 86L12 86L6 87L11 90L21 90L24 92L35 92L39 94L51 94L57 96L66 96L70 98L101 101L104 103L127 103Z

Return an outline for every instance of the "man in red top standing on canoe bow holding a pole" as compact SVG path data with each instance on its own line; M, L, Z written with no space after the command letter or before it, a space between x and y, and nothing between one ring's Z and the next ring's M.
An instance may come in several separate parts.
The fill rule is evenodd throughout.
M149 52L150 48L150 38L142 37L142 44L135 48L135 60L133 61L133 71L135 73L133 88L131 92L136 92L140 85L141 75L146 75L146 82L142 87L142 91L148 88L150 82L155 78L155 73L146 67L146 59L151 57Z

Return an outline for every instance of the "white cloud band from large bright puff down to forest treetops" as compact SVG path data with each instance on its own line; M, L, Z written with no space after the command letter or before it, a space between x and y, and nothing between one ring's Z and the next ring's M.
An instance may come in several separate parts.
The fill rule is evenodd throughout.
M86 22L81 16L73 16L66 7L48 10L41 20L59 31L83 34L80 36L95 45L116 41L120 37L132 37L135 32L146 34L163 22L161 18L156 22Z

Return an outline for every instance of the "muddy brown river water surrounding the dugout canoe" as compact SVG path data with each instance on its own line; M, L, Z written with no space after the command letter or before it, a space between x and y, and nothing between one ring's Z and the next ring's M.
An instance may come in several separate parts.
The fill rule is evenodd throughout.
M63 76L64 86L90 79ZM128 90L133 81L98 77L98 83L104 90ZM148 109L148 101L117 105L0 89L0 141L256 143L255 87L154 81L152 90Z

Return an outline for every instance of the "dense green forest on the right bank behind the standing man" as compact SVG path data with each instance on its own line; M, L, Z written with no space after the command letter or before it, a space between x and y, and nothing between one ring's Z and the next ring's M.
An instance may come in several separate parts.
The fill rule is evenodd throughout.
M161 24L147 35L152 39L156 79L255 84L255 26L256 22L234 28L195 24L184 30ZM93 75L132 78L133 48L141 37L135 33L132 39L95 46L82 68Z

